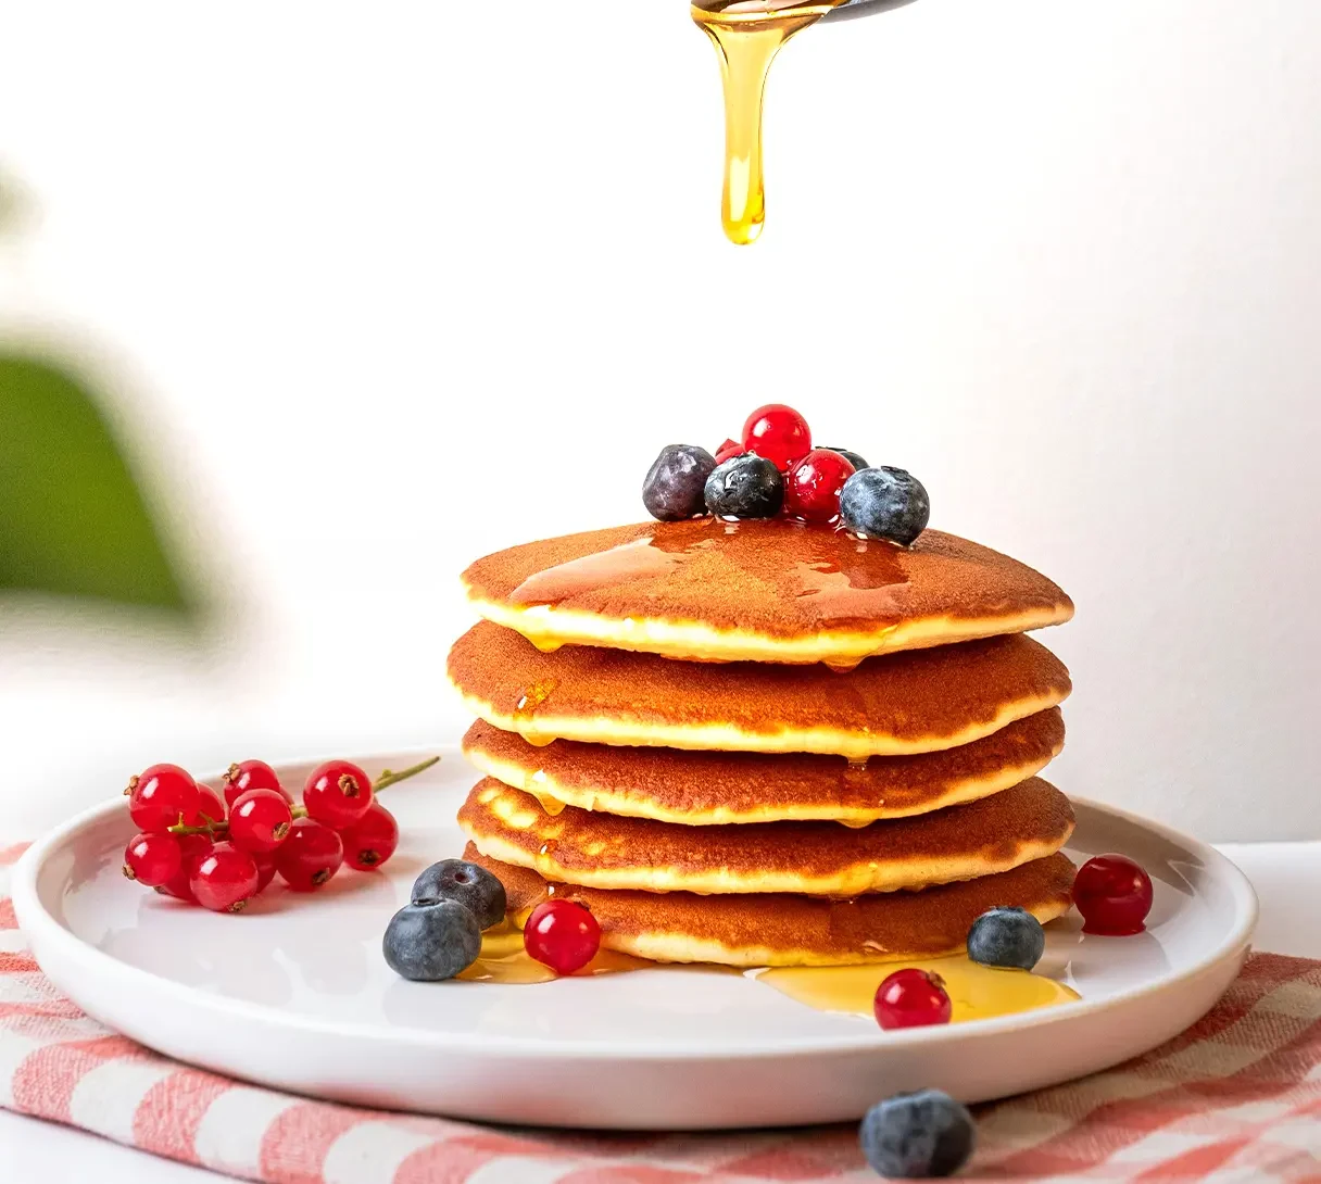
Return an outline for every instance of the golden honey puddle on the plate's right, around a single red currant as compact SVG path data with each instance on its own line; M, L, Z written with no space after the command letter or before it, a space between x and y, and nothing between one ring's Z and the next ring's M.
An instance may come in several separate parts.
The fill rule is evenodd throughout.
M952 1004L950 1023L954 1024L1036 1011L1078 999L1077 991L1053 978L1026 970L980 966L963 954L869 966L783 966L750 971L750 975L818 1011L871 1016L876 988L901 966L930 970L945 979Z

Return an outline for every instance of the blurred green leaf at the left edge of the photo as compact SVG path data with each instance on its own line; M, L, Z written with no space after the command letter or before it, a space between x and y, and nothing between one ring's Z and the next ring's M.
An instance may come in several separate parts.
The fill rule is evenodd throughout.
M83 382L0 354L0 592L192 610L133 474Z

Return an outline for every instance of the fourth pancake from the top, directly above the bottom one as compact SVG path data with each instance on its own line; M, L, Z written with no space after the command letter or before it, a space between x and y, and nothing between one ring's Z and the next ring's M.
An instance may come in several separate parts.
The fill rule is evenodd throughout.
M491 859L585 888L643 892L801 892L849 899L1007 872L1054 855L1073 834L1073 807L1033 777L980 802L921 818L675 826L536 798L487 777L458 825Z

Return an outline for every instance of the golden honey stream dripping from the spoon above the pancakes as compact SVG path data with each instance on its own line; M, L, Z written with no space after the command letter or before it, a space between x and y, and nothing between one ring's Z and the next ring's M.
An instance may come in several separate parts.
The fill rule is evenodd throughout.
M697 0L692 18L720 56L725 87L725 237L754 242L766 219L761 168L766 74L781 46L845 0Z

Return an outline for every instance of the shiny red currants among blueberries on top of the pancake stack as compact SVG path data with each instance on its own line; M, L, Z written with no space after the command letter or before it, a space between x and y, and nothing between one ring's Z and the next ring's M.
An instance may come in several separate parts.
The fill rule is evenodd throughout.
M839 493L857 465L839 448L812 448L812 429L783 403L758 407L744 424L741 440L725 440L716 464L754 452L785 476L783 513L803 522L835 522Z

